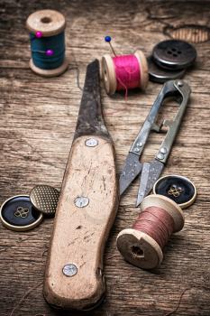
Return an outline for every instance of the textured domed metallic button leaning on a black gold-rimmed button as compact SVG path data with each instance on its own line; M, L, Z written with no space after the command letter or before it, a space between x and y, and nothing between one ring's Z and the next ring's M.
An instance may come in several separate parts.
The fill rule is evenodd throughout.
M59 202L59 191L50 185L37 185L32 189L30 199L35 209L53 216Z

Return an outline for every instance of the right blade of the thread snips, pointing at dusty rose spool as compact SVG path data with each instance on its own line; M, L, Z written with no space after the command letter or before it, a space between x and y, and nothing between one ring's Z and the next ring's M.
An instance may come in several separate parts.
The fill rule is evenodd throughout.
M154 159L150 163L143 163L136 207L138 207L140 203L142 203L143 198L150 193L153 185L159 179L163 168L164 164L160 163L160 161L156 159Z

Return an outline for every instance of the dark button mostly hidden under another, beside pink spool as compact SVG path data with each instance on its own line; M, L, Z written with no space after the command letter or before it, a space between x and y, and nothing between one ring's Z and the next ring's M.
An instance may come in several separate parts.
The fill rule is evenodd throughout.
M168 80L175 80L182 78L186 72L186 70L166 70L160 68L152 59L152 57L148 58L148 66L149 66L149 75L151 81L164 83Z

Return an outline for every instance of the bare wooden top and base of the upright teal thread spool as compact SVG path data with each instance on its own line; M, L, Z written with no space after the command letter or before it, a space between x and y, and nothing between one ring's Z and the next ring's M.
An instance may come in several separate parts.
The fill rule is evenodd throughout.
M29 15L26 21L26 27L30 33L41 33L41 37L50 37L64 32L66 20L63 14L54 10L36 11ZM56 77L68 69L68 60L64 58L62 64L55 69L41 69L37 67L33 60L30 60L32 71L42 77Z

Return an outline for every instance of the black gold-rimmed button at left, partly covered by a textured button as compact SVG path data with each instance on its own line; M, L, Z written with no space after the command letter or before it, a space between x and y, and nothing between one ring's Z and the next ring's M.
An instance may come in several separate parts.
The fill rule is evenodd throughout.
M16 195L2 204L0 219L6 228L25 231L41 223L43 216L33 208L27 195Z

